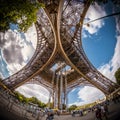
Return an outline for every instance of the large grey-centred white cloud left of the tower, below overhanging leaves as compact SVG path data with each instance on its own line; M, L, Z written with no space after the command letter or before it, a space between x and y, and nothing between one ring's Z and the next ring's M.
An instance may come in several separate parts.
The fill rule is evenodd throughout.
M10 75L22 69L33 56L37 45L34 24L23 34L8 30L0 33L0 49Z

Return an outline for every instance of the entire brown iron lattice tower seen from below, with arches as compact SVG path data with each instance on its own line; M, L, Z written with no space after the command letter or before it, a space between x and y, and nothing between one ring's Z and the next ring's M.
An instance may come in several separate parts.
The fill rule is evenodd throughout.
M67 104L67 93L76 86L92 85L109 95L119 86L97 71L82 48L81 36L91 0L39 0L45 8L35 23L37 48L30 62L2 82L14 90L37 82L51 91L54 107Z

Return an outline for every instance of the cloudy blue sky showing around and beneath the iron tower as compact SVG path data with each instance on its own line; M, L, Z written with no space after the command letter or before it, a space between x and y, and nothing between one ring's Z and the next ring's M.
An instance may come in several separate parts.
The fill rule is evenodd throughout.
M84 22L120 11L113 4L91 5ZM116 82L115 71L120 67L120 15L83 25L82 45L89 61L110 80ZM119 17L119 19L118 19ZM19 33L15 25L5 34L0 32L0 76L4 79L25 66L36 49L37 36L34 24L26 33ZM27 84L17 88L26 97L36 96L47 103L49 91L40 85ZM89 91L89 92L88 92ZM92 96L92 97L91 97ZM69 105L82 105L104 97L97 88L81 86L68 94ZM71 99L72 98L72 99Z

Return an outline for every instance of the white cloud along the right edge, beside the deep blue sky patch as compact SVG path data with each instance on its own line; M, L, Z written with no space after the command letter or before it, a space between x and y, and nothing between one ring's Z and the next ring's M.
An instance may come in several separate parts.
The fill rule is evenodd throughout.
M119 25L120 21L116 20L116 22L117 22L116 23L116 32L117 32L116 40L117 40L117 42L116 42L116 47L114 50L114 55L109 63L102 65L98 68L98 70L103 75L105 75L112 81L116 81L114 74L115 74L116 70L120 67L120 25Z

